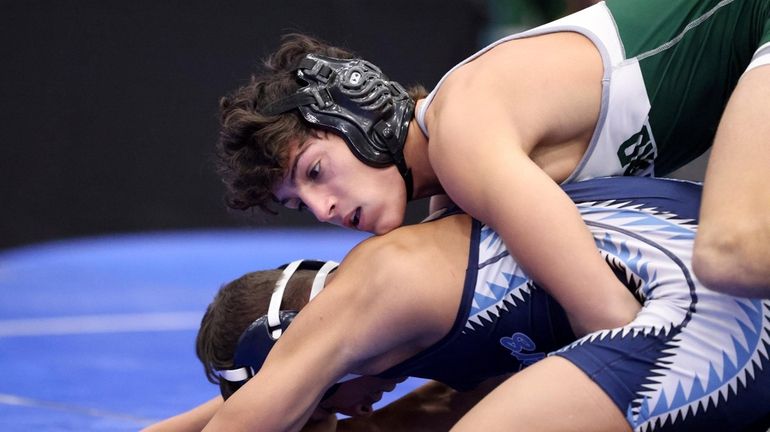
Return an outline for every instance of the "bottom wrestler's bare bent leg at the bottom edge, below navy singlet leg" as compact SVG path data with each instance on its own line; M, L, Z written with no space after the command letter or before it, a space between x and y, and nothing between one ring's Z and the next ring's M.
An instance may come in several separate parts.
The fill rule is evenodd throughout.
M502 383L453 431L630 431L607 396L568 360L548 357Z

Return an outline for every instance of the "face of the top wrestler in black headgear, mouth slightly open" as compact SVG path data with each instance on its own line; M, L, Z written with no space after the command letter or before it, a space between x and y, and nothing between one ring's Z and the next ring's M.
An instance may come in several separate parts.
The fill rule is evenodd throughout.
M375 234L400 226L406 211L398 169L364 164L341 137L326 131L291 145L288 172L273 193L286 207L307 209L321 222Z

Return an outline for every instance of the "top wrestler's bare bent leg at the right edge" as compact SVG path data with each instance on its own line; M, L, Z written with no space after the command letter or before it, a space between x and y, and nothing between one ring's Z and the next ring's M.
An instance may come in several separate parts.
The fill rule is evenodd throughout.
M741 78L709 159L693 267L709 288L770 296L770 65Z

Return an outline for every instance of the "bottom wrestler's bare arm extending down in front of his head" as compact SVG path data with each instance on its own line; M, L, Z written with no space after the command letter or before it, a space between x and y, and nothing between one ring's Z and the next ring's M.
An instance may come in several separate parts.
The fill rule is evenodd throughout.
M402 252L382 238L356 247L206 430L299 430L324 391L346 373L378 373L403 360L394 358L412 355L404 347L433 330L431 311L419 309L419 290L409 290L413 260L371 265Z

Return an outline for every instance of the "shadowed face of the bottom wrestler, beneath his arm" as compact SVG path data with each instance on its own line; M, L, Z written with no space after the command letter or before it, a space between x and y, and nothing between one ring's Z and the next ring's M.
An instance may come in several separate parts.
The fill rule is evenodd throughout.
M382 399L382 394L396 387L403 379L384 379L362 376L344 382L326 400L318 404L312 418L342 413L351 417L367 416L372 412L372 404Z

